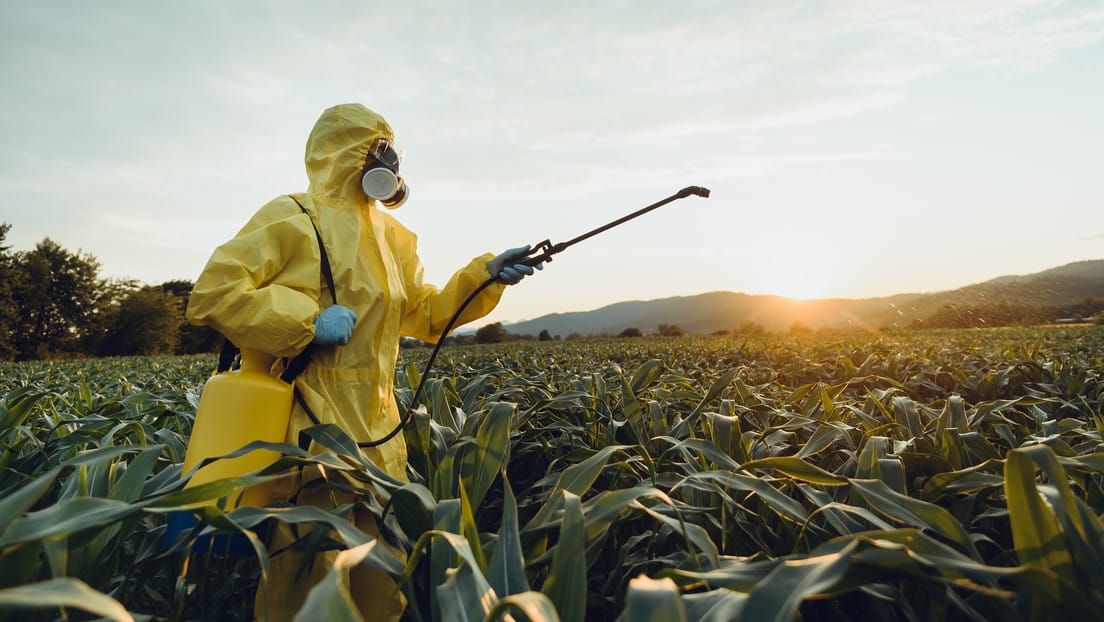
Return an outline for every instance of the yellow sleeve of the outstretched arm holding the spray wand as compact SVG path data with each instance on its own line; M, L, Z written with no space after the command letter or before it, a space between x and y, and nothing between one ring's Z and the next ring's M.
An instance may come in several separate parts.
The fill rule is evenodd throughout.
M403 278L406 286L406 306L403 309L401 331L423 341L437 341L460 303L471 295L476 287L490 278L487 262L495 259L495 255L485 253L471 260L448 280L444 288L438 289L423 280L422 260L417 256L417 236L397 223L393 231L403 261ZM498 305L503 291L506 285L502 283L495 282L488 285L467 306L456 326L489 314Z

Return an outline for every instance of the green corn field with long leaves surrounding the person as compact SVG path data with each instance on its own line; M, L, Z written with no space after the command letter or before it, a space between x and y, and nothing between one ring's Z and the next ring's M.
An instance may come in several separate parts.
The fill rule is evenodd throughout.
M213 365L0 363L0 619L248 620L274 521L344 549L302 620L355 620L359 563L411 621L1104 619L1101 327L454 347L408 483L317 426L322 453L184 489ZM163 542L169 513L302 465L379 538L349 505L209 505L197 529L253 555Z

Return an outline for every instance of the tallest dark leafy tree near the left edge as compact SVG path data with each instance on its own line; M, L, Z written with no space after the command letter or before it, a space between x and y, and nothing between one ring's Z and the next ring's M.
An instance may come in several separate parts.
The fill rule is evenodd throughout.
M78 352L102 328L118 288L98 277L99 262L49 238L14 256L15 318L11 342L21 359Z

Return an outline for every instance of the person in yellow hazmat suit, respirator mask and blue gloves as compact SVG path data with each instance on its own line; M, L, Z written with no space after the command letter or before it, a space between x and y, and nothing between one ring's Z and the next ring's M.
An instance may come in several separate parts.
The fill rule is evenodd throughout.
M524 246L475 257L444 288L426 283L416 236L380 210L381 204L396 208L410 196L399 176L400 161L394 134L382 116L359 104L325 110L307 140L307 191L272 200L219 246L187 309L191 323L219 330L243 350L284 358L316 344L296 388L321 423L339 425L358 442L383 437L400 422L393 392L400 336L436 341L460 303L489 277L497 280L473 301L459 324L490 313L506 285L533 273L520 263L529 251ZM327 292L320 276L316 228L336 293ZM333 294L340 305L332 304ZM287 442L297 443L299 432L312 424L296 403ZM406 481L402 434L363 451L390 475ZM276 500L290 499L300 483L284 483ZM332 505L323 487L304 488L296 503ZM375 535L372 517L363 514L357 515L358 527ZM270 549L283 550L294 539L287 525L278 524ZM291 619L335 555L320 554L328 563L316 559L305 576L297 576L300 555L274 555L268 589L257 592L256 619ZM385 573L360 567L350 573L348 587L365 620L401 616L402 595Z

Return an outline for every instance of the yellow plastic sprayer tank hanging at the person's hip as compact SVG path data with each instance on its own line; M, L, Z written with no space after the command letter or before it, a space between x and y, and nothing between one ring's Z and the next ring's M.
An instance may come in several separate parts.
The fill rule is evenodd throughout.
M242 367L212 376L200 393L195 423L188 441L182 473L203 460L225 455L253 441L283 443L291 417L291 384L269 373L274 357L255 350L242 350ZM188 487L223 477L234 477L264 468L279 458L279 453L256 450L230 460L215 461L199 470ZM251 486L233 507L262 506L272 497L273 483ZM231 499L235 502L236 499Z

